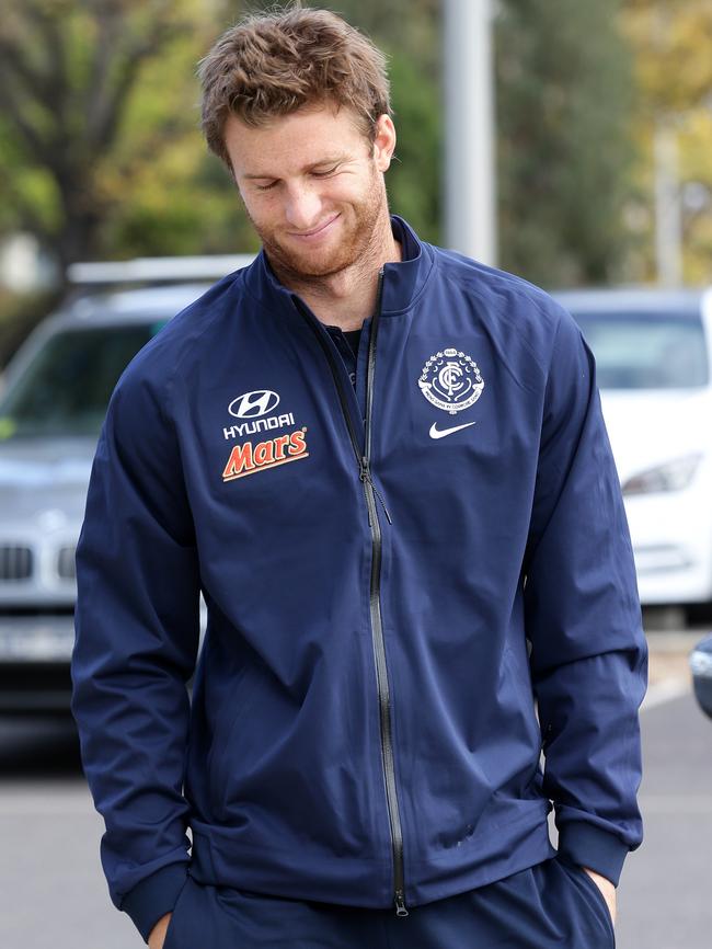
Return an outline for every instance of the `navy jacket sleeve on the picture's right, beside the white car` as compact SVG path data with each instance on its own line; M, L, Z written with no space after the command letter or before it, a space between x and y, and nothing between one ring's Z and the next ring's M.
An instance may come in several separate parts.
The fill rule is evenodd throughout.
M525 574L543 787L559 850L618 884L625 855L642 841L638 712L647 648L594 357L563 311Z

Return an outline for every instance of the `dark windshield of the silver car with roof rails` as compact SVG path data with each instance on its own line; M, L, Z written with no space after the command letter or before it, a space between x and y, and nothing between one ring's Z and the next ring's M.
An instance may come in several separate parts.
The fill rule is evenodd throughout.
M0 441L96 436L118 377L164 323L82 327L50 336L0 401Z

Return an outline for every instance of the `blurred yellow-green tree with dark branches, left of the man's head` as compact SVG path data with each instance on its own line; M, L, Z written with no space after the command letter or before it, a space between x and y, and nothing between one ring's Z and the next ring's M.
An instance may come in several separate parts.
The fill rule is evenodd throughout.
M0 175L10 187L0 228L32 231L62 273L72 261L119 248L210 245L214 224L196 204L202 186L218 220L220 206L210 172L200 181L194 77L216 33L208 11L199 0L5 4ZM160 236L151 232L158 216Z

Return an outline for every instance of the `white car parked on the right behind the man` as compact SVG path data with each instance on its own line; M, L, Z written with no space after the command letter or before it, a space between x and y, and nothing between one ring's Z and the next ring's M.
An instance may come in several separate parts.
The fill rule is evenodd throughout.
M712 289L554 296L596 357L642 604L710 604Z

